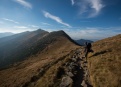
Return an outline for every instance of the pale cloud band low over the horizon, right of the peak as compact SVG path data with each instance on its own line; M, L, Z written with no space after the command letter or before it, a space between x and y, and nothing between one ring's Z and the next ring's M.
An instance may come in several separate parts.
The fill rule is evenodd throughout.
M90 40L100 40L107 37L111 37L117 34L121 34L121 27L86 27L79 29L69 29L65 30L73 39L90 39Z

